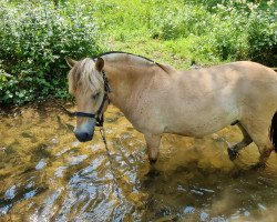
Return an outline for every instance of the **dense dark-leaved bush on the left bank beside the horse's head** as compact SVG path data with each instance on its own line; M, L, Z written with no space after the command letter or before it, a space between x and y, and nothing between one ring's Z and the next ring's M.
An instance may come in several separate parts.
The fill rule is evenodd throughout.
M65 57L100 51L90 4L0 0L0 103L68 97ZM12 78L7 77L11 74Z

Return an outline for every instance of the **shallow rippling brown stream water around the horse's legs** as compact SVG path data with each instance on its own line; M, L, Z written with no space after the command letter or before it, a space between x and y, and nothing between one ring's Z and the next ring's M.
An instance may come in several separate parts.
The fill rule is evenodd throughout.
M0 120L0 221L277 221L276 154L263 171L249 170L255 145L230 162L236 127L202 140L165 135L150 178L143 137L114 107L105 122L113 168L100 132L78 142L74 119L51 103Z

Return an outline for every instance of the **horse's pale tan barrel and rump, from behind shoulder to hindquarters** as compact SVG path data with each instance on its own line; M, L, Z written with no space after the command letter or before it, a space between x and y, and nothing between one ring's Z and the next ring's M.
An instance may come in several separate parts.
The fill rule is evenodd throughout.
M158 102L168 132L202 137L239 120L245 107L273 100L271 109L277 109L277 74L255 62L178 71L171 78L168 93Z

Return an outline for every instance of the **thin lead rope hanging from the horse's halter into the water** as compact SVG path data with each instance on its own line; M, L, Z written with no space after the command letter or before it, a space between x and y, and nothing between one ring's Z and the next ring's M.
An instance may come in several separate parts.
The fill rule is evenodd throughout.
M105 130L104 130L103 127L100 127L100 133L101 133L102 140L103 140L104 145L105 145L106 157L107 157L107 160L110 162L111 173L112 173L112 176L113 176L113 183L115 185L116 199L119 201L119 206L120 206L120 209L119 209L120 212L115 213L115 216L116 216L116 214L119 214L119 216L122 216L123 212L122 212L121 206L123 206L123 201L122 201L122 196L121 196L121 192L120 192L120 185L119 185L116 176L114 174L114 168L113 168L113 164L112 164L112 155L111 155L111 153L109 151L109 148L107 148L107 143L106 143L106 139L105 139ZM123 221L123 219L121 219L120 221Z

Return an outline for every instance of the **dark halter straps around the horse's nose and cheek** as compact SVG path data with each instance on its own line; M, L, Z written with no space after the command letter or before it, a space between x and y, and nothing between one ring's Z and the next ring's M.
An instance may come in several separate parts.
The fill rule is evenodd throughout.
M111 92L111 88L109 84L109 81L106 79L105 72L102 71L103 80L104 80L104 97L102 100L101 105L99 107L99 110L96 113L86 113L86 112L74 112L75 117L81 117L81 118L92 118L96 120L96 127L103 127L104 123L104 114L102 113L105 101L110 104L110 98L109 94ZM101 114L102 113L102 114ZM101 115L100 115L101 114Z

